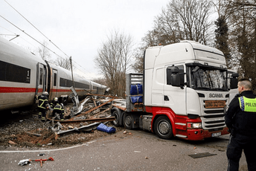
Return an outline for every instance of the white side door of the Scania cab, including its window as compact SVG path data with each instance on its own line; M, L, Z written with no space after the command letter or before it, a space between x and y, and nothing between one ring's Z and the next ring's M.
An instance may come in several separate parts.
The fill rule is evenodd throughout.
M178 73L170 71L170 67L179 68ZM186 114L186 86L185 86L185 66L184 65L167 65L165 67L165 84L164 84L164 106L173 110L176 114ZM170 75L176 74L179 77L179 83L173 83ZM172 75L173 77L173 75Z

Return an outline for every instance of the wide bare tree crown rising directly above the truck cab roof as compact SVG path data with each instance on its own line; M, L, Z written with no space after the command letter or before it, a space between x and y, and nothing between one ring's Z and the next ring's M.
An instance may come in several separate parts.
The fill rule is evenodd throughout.
M171 0L156 17L154 32L162 45L183 39L206 45L211 39L211 13L208 0Z

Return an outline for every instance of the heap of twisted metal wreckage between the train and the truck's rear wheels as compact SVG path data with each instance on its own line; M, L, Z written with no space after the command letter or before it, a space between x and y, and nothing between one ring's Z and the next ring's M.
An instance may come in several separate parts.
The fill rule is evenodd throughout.
M55 138L63 137L65 135L71 135L77 132L92 132L92 130L96 129L101 122L103 122L103 124L106 124L109 121L115 120L115 117L112 117L111 115L106 116L106 114L104 114L104 117L100 115L103 115L103 113L108 112L111 109L112 104L110 104L109 106L107 104L111 103L112 100L115 100L118 97L101 95L101 94L86 94L86 99L83 100L83 103L80 103L77 92L74 90L73 87L71 87L70 89L72 93L69 94L69 97L71 98L74 104L74 106L70 110L70 114L69 114L70 119L55 120L56 117L48 118L49 120L48 123L52 123L51 129L52 131L55 132L55 135L56 135ZM104 99L96 100L97 98L102 98L102 97ZM85 107L85 104L89 100L92 100L94 102L94 105L95 105L94 108L92 108L92 106ZM102 106L107 106L107 107L101 108ZM99 110L100 108L104 110L100 112ZM93 117L88 118L88 116L86 117L86 114L93 114ZM54 124L54 122L56 123ZM93 122L93 123L86 126L80 126L79 128L70 126L69 129L65 131L60 130L61 128L63 128L61 123L82 123L82 122ZM57 127L57 128L54 129L54 127Z

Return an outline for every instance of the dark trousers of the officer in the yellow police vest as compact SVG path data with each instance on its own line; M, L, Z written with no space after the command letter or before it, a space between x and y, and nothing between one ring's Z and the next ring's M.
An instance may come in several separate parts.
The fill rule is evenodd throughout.
M230 135L227 157L228 171L238 171L242 152L246 155L249 171L256 171L256 135Z

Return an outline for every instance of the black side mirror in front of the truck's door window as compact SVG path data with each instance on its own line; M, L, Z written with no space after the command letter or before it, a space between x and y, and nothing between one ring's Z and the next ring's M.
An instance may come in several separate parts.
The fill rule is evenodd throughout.
M179 68L175 66L169 66L167 68L167 85L177 86L180 84Z

